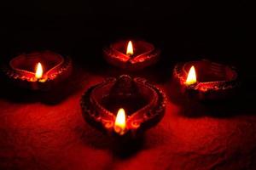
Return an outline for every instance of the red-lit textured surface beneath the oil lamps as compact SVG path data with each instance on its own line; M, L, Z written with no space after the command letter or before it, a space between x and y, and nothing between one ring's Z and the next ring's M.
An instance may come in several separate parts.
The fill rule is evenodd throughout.
M143 140L115 147L116 141L84 122L79 105L84 91L104 77L79 71L66 88L44 94L55 99L59 93L55 103L2 92L0 169L256 168L256 116L247 108L229 116L191 117L168 98L166 115ZM170 88L168 82L157 85Z

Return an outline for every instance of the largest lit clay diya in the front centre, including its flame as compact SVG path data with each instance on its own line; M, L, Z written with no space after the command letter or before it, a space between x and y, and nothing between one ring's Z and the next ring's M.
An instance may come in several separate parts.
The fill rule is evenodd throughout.
M94 127L117 136L136 136L160 122L166 97L145 79L122 75L89 88L81 107L85 120Z

